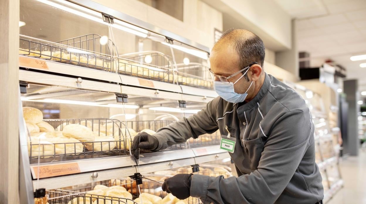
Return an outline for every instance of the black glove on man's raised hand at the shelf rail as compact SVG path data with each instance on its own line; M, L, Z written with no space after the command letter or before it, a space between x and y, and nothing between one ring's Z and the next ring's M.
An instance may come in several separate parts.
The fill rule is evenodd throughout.
M131 153L135 159L138 159L139 148L143 150L156 150L159 146L159 141L155 136L149 135L146 132L140 132L134 137L131 146Z

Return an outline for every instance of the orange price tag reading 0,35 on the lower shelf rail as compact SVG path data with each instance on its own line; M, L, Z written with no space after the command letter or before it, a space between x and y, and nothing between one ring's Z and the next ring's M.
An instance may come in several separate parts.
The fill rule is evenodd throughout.
M44 165L40 166L39 170L38 166L34 166L33 170L34 170L34 178L38 178L38 176L39 178L47 178L47 177L62 176L81 172L78 163Z

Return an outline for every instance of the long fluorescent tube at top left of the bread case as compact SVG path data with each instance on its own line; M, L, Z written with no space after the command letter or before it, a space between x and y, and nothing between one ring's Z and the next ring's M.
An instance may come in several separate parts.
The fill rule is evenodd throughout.
M118 24L116 24L116 23L115 23L115 24L109 24L109 23L107 23L107 22L104 22L100 17L99 17L99 18L97 18L97 17L95 17L95 16L91 16L91 15L89 15L89 14L85 14L85 13L83 13L83 12L77 11L77 10L75 10L75 9L72 9L72 8L66 7L66 6L61 5L61 4L54 3L54 2L52 2L52 1L48 1L48 0L37 0L37 1L39 1L39 2L41 2L41 3L44 3L44 4L48 4L48 5L52 6L52 7L56 7L56 8L62 9L62 10L64 10L64 11L70 12L70 13L72 13L72 14L76 14L76 15L78 15L78 16L82 16L82 17L84 17L84 18L87 18L87 19L90 19L90 20L94 20L95 22L102 23L102 24L105 24L105 25L107 25L107 26L112 26L112 27L117 28L117 29L119 29L119 30L123 30L123 31L129 32L129 33L132 33L132 34L134 34L134 35L141 36L141 37L143 37L143 38L146 38L146 37L147 37L147 34L145 34L145 33L142 33L142 32L136 31L136 30L132 30L131 28L127 28L127 27L124 27L124 26L118 25ZM89 11L88 11L89 9L84 8L84 7L81 7L81 8L79 8L79 9L82 9L83 11L89 12ZM90 13L90 12L89 12L89 13Z

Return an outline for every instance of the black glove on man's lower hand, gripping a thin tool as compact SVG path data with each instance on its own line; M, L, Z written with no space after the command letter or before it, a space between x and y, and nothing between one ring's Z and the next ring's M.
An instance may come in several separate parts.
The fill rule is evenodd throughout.
M161 189L167 193L173 194L180 200L190 196L191 177L193 174L177 174L171 178L165 179Z

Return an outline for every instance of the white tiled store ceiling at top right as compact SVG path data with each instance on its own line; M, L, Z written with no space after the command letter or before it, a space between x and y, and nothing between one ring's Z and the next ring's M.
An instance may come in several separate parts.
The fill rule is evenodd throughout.
M366 54L366 0L275 1L296 19L298 49L310 53L312 66L332 59L366 91L366 69L359 66L366 60L350 60Z

